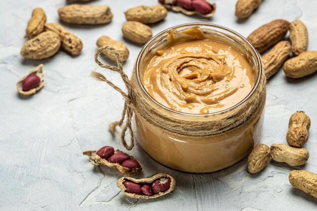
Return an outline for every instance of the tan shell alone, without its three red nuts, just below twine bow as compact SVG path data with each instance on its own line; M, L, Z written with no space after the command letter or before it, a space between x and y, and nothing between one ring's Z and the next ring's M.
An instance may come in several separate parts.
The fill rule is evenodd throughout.
M107 159L103 159L101 158L99 155L96 154L97 150L88 150L88 151L84 151L83 154L89 156L89 160L91 162L91 164L93 165L103 165L103 166L107 166L109 168L114 168L116 170L118 170L121 174L123 175L135 175L139 172L141 172L143 165L142 163L135 159L134 157L132 157L131 155L129 155L131 157L131 159L134 159L136 161L138 161L138 163L140 164L141 167L139 168L127 168L124 166L121 166L120 163L112 163L109 162ZM118 152L122 152L120 150L115 150L114 154L118 153Z

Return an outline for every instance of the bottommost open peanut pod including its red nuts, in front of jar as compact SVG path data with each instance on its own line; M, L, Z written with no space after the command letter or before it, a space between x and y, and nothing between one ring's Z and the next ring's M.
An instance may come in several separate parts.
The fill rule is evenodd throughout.
M174 190L175 185L175 179L165 173L143 179L123 177L117 181L118 188L124 194L132 198L141 199L151 199L166 195Z

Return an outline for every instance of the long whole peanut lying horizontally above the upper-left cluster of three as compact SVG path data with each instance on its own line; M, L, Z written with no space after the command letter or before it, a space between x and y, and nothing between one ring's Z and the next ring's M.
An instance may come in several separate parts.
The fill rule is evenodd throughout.
M113 17L108 6L72 4L58 10L61 21L72 24L104 24Z

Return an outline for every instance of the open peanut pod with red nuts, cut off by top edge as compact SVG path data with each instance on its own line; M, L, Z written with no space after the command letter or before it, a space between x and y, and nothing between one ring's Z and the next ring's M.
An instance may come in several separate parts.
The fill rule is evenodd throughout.
M207 0L159 0L169 10L181 12L185 15L200 15L202 17L212 17L216 10L216 5Z

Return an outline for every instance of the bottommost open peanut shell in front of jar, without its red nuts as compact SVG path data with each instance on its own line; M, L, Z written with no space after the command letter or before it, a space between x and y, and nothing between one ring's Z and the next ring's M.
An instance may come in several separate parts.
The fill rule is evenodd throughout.
M167 191L164 191L164 192L156 193L156 194L151 195L151 196L138 195L138 194L135 194L135 193L128 193L128 192L126 192L126 187L123 184L126 180L132 181L132 182L135 182L135 183L139 183L139 184L143 184L143 183L151 184L155 180L160 179L162 177L168 177L168 178L171 179L170 189L168 189ZM153 175L152 177L142 178L142 179L135 179L135 178L132 178L132 177L122 177L116 182L116 185L118 186L118 188L120 188L120 190L124 194L126 194L127 196L129 196L131 198L151 199L151 198L158 198L158 197L164 196L164 195L172 192L174 190L175 186L176 186L176 180L174 179L174 177L172 177L169 174L160 173L160 174Z

